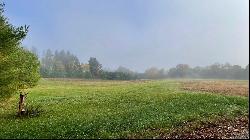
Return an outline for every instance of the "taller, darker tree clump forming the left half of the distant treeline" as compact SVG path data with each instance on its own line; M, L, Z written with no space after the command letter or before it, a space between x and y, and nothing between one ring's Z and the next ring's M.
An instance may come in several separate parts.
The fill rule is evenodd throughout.
M104 71L102 65L94 57L88 63L80 63L79 59L64 50L52 52L47 50L41 59L40 73L42 77L85 78L107 80L136 79L136 74L127 68L119 67L116 71Z

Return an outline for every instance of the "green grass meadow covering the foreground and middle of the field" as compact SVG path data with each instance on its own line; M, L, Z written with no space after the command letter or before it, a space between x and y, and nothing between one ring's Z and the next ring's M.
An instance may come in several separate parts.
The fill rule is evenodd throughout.
M0 101L0 138L154 138L186 122L249 114L248 97L180 86L178 80L41 79L26 100L41 106L38 116L15 116L18 94Z

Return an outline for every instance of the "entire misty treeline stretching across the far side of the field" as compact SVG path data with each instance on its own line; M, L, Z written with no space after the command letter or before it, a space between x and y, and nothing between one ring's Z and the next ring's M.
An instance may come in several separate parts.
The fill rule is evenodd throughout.
M88 63L81 63L69 51L47 50L41 59L42 77L67 77L85 79L107 80L133 80L133 79L163 79L163 78L202 78L202 79L249 79L249 65L242 68L239 65L215 63L206 67L190 67L187 64L178 64L169 70L155 67L147 69L144 73L137 73L125 67L115 71L105 71L94 57Z

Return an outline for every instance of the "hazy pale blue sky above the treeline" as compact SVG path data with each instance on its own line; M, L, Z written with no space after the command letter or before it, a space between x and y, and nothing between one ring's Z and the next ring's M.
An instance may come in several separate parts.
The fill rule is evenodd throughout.
M69 50L81 62L143 72L155 66L249 61L248 0L6 0L23 45Z

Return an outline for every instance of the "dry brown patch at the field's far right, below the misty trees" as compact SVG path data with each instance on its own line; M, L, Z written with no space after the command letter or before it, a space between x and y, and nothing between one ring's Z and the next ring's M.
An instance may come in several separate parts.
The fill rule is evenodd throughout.
M247 81L185 81L181 82L181 89L223 95L249 96Z

